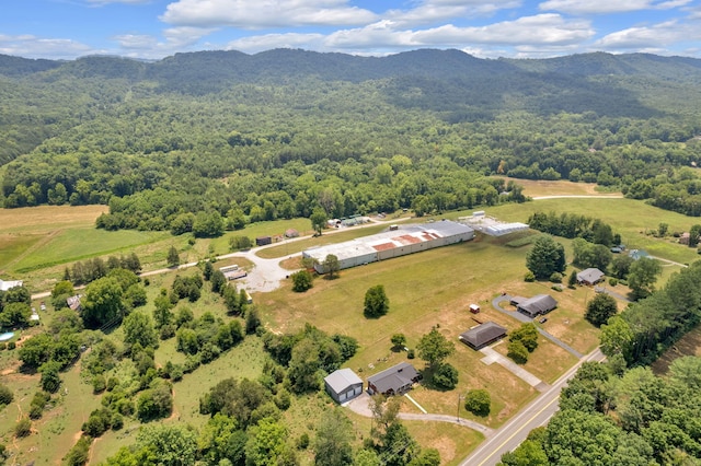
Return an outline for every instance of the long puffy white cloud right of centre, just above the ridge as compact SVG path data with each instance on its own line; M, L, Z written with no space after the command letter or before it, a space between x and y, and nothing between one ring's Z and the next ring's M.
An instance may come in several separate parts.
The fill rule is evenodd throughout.
M447 24L423 31L397 31L382 21L366 27L337 31L326 37L329 48L366 47L475 47L476 45L572 45L595 34L588 21L564 20L559 14L539 14L481 27Z

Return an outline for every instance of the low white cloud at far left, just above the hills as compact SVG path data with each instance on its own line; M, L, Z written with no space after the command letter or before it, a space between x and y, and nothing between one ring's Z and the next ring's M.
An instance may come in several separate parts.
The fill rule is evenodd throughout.
M24 58L69 60L81 55L97 54L85 44L71 39L41 38L33 35L0 35L0 54Z

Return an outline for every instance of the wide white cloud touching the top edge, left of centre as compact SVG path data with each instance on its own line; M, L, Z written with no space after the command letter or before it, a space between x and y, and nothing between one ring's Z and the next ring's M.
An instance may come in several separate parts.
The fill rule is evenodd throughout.
M346 0L179 0L160 16L170 24L243 30L354 25L376 19L371 11L350 7Z

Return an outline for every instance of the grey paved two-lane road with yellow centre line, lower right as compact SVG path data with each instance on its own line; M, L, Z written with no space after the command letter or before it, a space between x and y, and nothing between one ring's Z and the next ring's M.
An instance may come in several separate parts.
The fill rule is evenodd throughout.
M558 378L550 389L541 394L506 424L494 432L493 435L490 435L482 442L470 456L460 463L460 466L496 465L501 461L502 455L520 445L532 429L548 423L550 418L558 411L560 392L585 361L602 361L604 359L605 356L598 348L587 354L586 358L581 359L572 369Z

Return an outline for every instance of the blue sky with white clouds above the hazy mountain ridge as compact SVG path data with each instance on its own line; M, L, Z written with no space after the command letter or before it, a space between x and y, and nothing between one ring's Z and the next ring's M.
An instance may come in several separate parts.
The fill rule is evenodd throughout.
M701 58L701 0L4 0L0 54L158 59L303 48L482 58L645 51Z

